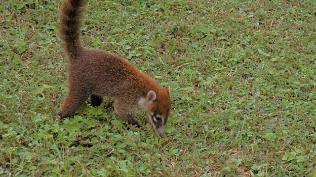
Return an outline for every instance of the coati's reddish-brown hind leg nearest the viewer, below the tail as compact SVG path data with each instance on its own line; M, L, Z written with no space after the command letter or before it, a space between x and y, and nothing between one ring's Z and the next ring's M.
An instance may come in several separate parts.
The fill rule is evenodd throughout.
M87 100L89 91L85 87L70 87L58 115L60 118L68 118Z

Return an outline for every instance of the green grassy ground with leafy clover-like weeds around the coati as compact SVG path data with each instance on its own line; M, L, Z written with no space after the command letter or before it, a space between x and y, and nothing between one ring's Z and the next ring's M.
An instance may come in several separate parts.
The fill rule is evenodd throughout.
M311 176L315 0L91 1L82 41L171 87L167 133L86 104L60 120L61 1L0 4L0 176Z

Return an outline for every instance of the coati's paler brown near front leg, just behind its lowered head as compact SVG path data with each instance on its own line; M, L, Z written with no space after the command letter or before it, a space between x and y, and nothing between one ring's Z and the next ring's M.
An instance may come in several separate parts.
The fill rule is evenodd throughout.
M138 121L134 118L132 114L132 109L130 104L124 102L124 100L115 100L114 109L118 117L122 120L127 121L128 124L138 126Z

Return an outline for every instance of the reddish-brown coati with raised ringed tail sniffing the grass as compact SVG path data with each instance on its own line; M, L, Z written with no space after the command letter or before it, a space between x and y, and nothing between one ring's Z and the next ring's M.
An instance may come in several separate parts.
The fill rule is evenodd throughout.
M119 118L129 124L139 111L146 111L154 130L162 135L171 109L169 89L124 59L80 44L83 6L87 0L65 0L61 8L59 30L69 58L69 91L58 115L70 117L91 97L91 105L100 106L103 96L114 99Z

